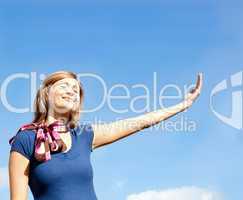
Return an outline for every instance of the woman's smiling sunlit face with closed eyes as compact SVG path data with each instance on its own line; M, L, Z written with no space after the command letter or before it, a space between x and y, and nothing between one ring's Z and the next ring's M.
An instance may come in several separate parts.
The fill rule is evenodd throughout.
M64 78L55 82L48 94L49 108L57 113L67 113L79 107L79 83L76 79Z

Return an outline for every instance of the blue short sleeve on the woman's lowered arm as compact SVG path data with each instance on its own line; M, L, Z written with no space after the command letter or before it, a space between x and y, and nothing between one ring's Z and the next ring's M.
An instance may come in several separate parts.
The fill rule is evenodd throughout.
M19 131L14 137L10 152L17 151L30 160L33 155L34 144L32 137L28 131Z

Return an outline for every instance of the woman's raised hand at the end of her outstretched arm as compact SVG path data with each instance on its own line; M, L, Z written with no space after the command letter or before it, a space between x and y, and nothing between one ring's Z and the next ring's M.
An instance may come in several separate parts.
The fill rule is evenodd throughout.
M193 102L198 98L198 96L201 93L201 89L202 89L202 73L199 73L197 75L197 83L196 86L191 89L191 91L186 94L184 101L183 101L183 105L184 105L184 109L187 109L189 107L192 106Z

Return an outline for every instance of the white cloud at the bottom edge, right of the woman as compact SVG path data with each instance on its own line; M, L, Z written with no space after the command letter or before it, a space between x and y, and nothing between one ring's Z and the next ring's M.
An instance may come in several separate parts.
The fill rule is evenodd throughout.
M217 192L192 186L166 190L149 190L131 194L127 197L127 200L223 200L223 198Z

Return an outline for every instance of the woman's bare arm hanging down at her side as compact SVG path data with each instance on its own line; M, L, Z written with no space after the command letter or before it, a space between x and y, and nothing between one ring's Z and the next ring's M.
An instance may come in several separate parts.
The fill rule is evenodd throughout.
M27 200L29 180L29 160L12 151L9 156L10 200Z

